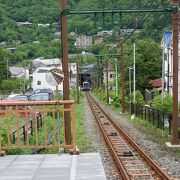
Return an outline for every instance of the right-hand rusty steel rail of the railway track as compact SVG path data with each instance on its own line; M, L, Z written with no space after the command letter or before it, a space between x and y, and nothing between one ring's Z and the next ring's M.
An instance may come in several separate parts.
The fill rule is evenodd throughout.
M114 126L114 128L120 132L126 139L126 141L141 155L141 157L148 163L148 165L153 169L156 174L163 180L170 180L170 178L149 156L123 131L121 127L119 127L112 118L102 109L102 107L94 100L94 98L88 93L87 95L88 101L91 98L94 104L102 111L103 115L111 122L111 124ZM90 104L90 102L89 102ZM92 107L92 105L90 105ZM92 109L92 108L91 108ZM93 111L93 110L92 110ZM95 112L93 112L94 114ZM96 119L98 118L97 115L95 115ZM100 123L98 123L100 124ZM102 125L101 125L102 126ZM101 127L103 128L103 127ZM107 140L106 140L107 141ZM111 143L110 143L111 144ZM115 156L114 156L115 157ZM116 160L115 160L116 161Z

